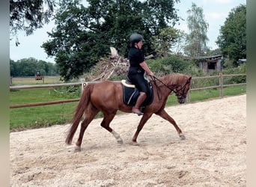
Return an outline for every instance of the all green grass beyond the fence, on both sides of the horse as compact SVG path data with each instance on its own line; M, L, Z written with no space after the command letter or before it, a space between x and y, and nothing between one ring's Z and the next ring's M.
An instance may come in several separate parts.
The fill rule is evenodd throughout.
M28 82L26 81L28 80L20 79L19 85L32 85L30 80ZM18 80L16 80L15 84L18 84L17 82ZM59 83L58 78L52 77L47 80L47 83ZM42 82L40 84L42 84ZM246 93L246 86L224 88L224 96L243 93ZM10 105L63 99L79 99L80 95L81 90L79 87L73 87L72 89L43 88L10 91ZM219 89L192 91L190 93L190 102L212 98L219 98ZM73 110L76 108L76 105L77 102L70 102L26 108L10 108L10 131L67 123L73 117ZM178 105L177 98L174 94L168 97L166 105ZM102 117L102 114L98 114L97 117Z

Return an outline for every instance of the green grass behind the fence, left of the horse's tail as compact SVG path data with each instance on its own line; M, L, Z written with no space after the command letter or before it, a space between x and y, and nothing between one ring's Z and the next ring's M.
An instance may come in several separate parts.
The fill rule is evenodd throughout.
M79 99L80 88L42 88L10 91L10 105ZM70 120L77 102L10 109L10 129L26 129L61 124Z

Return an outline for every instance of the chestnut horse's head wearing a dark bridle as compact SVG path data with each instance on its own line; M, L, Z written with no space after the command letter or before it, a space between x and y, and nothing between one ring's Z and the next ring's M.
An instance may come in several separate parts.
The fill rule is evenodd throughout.
M178 84L175 88L174 92L176 93L177 101L180 104L183 104L185 102L186 94L188 93L190 88L191 79L192 79L191 76L190 77L186 76L186 78L183 79L183 82Z

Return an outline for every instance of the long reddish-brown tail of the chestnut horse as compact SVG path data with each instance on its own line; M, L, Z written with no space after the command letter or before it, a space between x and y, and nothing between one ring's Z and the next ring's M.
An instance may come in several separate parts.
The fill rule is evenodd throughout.
M92 88L93 88L93 85L87 85L84 91L82 92L82 96L79 100L78 105L76 106L76 110L74 111L75 114L72 120L70 120L70 123L72 125L70 126L70 130L67 134L67 138L65 141L66 144L71 144L72 142L73 136L76 132L77 127L79 126L82 115L84 114L85 109L88 107Z

